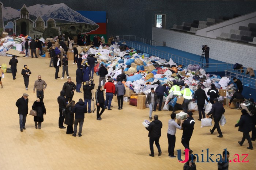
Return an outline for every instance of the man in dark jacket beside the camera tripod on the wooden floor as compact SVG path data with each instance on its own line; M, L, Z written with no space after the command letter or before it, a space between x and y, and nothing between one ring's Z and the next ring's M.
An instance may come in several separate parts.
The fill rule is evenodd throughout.
M83 85L83 98L84 98L84 103L87 107L87 102L88 102L88 113L91 113L91 90L94 89L94 81L91 79L91 86L89 84L89 81L85 82L85 85Z

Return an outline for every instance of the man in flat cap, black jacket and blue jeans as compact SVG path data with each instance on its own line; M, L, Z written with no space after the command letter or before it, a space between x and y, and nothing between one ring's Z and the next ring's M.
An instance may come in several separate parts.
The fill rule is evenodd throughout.
M29 111L29 107L28 107L29 98L27 98L28 96L29 94L23 93L22 97L20 97L15 103L16 107L18 107L20 132L23 132L23 130L26 130L25 124L26 124L27 114Z

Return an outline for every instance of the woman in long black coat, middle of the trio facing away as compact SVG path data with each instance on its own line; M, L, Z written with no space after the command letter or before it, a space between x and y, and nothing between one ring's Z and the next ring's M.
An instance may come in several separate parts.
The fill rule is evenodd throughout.
M68 125L66 134L73 134L73 124L74 124L74 113L72 112L72 109L74 108L75 101L72 100L67 104L66 106L66 114L65 114L65 121L64 123Z

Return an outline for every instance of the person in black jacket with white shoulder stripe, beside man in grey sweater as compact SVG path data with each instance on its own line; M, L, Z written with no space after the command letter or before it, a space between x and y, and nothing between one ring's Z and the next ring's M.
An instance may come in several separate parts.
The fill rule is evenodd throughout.
M182 137L181 137L181 143L185 148L188 148L189 154L191 154L193 151L189 148L189 141L191 139L191 136L193 134L193 130L194 130L194 125L195 125L195 120L192 117L193 113L192 112L188 112L187 115L187 119L185 119L182 123L182 129L183 133L182 133Z

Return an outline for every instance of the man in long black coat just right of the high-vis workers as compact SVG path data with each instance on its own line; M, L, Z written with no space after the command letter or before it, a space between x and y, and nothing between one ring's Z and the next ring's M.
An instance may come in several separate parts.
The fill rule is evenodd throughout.
M205 100L209 102L205 91L203 89L201 89L200 85L197 85L197 90L195 91L194 97L197 100L197 106L198 106L198 114L199 114L199 121L201 121L202 119L202 114L203 114L203 118L205 118L205 113L204 113L204 104L205 104Z

